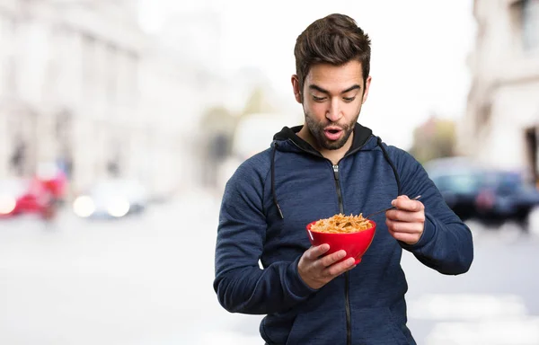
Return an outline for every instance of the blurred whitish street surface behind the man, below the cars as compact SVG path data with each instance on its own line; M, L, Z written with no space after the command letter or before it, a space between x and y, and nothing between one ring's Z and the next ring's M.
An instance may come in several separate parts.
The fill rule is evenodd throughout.
M261 344L260 316L212 288L218 198L195 192L142 215L0 221L0 343ZM419 344L539 344L539 235L471 224L470 272L445 277L404 253Z

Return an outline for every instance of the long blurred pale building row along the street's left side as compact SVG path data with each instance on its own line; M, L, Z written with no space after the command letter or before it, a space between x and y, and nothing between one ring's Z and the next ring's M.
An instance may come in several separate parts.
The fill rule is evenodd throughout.
M110 177L155 197L203 182L230 118L268 82L220 65L211 5L176 11L150 33L136 0L0 0L0 179L55 162L75 192Z

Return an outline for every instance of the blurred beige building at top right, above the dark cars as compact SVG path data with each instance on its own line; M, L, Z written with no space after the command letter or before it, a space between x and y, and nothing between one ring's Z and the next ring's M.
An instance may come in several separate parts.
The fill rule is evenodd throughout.
M539 0L475 0L459 151L539 181Z

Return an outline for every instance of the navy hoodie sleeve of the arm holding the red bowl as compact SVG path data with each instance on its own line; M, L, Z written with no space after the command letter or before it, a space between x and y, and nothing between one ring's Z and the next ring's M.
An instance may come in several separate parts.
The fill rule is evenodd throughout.
M263 270L259 267L267 228L262 207L264 179L250 163L240 166L225 187L217 227L214 289L219 303L231 313L285 312L314 290L299 277L299 257Z

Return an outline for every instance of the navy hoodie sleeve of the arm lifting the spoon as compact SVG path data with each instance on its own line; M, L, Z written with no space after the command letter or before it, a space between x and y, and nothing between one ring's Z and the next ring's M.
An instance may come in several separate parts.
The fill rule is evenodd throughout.
M423 166L405 151L396 150L395 163L402 194L410 198L421 195L426 218L420 241L412 245L400 242L402 248L440 273L456 275L466 272L473 261L472 232L447 206Z

